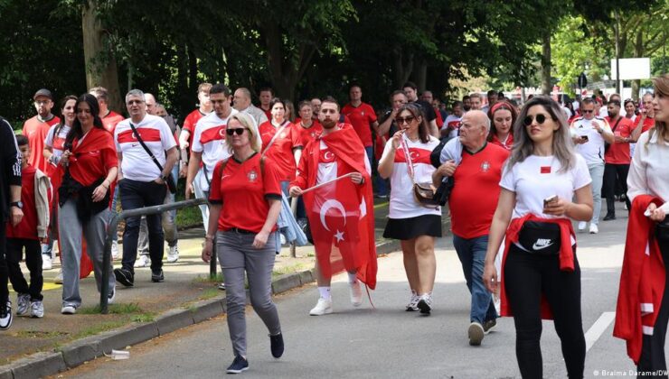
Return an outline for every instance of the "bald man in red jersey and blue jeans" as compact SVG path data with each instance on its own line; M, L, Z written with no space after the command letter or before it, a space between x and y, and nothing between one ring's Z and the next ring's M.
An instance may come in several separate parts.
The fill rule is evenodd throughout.
M469 345L479 346L497 324L492 295L483 283L488 231L493 222L502 168L509 156L503 147L487 143L490 120L484 112L471 110L462 117L460 135L442 150L441 166L432 175L436 185L453 177L448 198L453 245L462 263L466 286L472 294L467 335Z

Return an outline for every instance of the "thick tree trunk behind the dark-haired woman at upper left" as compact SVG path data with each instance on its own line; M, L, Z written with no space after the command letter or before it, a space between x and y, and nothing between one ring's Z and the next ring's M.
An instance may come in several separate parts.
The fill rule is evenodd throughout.
M104 87L109 93L109 108L124 109L118 87L118 71L114 55L104 50L105 32L98 19L98 0L87 0L81 7L83 29L84 63L88 88Z

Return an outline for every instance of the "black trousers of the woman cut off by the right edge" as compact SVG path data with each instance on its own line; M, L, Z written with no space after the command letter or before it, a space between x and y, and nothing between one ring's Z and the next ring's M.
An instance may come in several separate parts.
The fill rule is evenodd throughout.
M661 240L658 236L660 253L664 261L664 272L669 273L669 239ZM667 322L669 322L669 274L664 277L664 294L660 304L660 312L655 319L653 336L644 335L641 346L641 357L636 370L639 373L654 373L639 375L639 377L666 378L666 358L664 357L664 338L666 337Z

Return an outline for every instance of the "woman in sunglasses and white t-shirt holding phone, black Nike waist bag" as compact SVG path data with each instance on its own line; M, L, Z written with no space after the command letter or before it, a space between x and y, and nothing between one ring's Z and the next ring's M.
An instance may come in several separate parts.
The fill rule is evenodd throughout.
M542 319L554 319L567 373L581 378L585 337L571 220L592 217L588 165L574 152L566 117L550 97L532 97L525 104L514 136L517 142L502 174L490 227L484 283L493 292L501 283L501 314L514 317L523 378L543 376ZM503 239L498 282L495 256Z

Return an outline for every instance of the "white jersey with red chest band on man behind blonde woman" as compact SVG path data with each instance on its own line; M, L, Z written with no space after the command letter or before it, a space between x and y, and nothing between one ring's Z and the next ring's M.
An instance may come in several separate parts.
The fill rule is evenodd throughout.
M232 109L230 115L221 118L212 112L203 116L195 125L191 150L203 154L203 164L209 180L212 180L212 172L216 163L228 159L231 155L225 143L225 129L228 127L230 116L236 113L237 110Z

